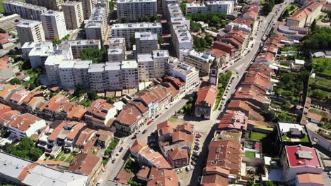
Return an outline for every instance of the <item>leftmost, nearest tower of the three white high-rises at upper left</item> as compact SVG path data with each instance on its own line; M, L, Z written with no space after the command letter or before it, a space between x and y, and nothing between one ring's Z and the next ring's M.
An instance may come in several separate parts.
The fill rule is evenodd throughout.
M45 32L40 21L24 20L16 26L16 30L21 46L25 42L45 42Z

